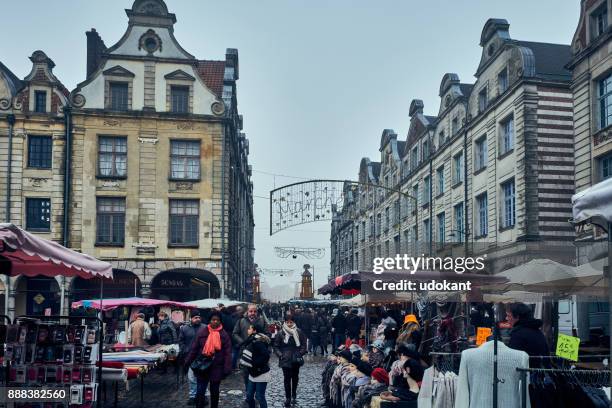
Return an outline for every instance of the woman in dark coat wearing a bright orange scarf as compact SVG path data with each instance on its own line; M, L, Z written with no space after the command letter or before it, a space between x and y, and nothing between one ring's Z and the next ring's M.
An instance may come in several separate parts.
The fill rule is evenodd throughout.
M209 316L210 322L203 326L192 343L191 351L185 359L189 366L199 354L213 357L211 367L202 376L197 376L198 390L196 406L204 406L206 388L210 384L210 408L219 407L219 388L221 380L232 372L232 341L221 324L221 314L217 311Z

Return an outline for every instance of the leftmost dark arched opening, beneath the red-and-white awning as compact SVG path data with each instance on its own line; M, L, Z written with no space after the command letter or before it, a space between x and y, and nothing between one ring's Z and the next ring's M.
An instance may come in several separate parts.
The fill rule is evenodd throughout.
M60 312L60 289L55 278L21 276L15 285L15 315L42 316Z

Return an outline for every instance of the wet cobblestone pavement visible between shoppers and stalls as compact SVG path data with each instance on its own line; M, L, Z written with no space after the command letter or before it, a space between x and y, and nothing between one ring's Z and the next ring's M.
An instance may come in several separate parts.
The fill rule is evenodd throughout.
M295 408L317 408L322 402L321 373L325 366L325 359L320 356L306 355L305 364L300 370L298 383L298 398ZM272 381L268 383L266 399L270 408L282 408L285 402L283 386L283 372L278 367L275 356L270 359L272 368ZM221 408L241 408L244 401L244 383L240 372L233 373L221 383ZM124 384L118 385L118 408L177 408L187 406L188 384L187 379L179 378L177 384L176 374L170 368L166 374L156 369L149 373L144 381L144 403L140 403L140 382L130 381L129 389ZM114 407L114 388L112 384L106 385L105 408ZM210 405L209 405L210 406Z

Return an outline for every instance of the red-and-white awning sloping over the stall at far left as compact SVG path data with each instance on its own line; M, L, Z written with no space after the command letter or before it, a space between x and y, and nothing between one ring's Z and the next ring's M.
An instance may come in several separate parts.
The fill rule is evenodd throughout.
M5 275L80 276L112 279L108 262L38 238L13 224L0 224L0 271Z

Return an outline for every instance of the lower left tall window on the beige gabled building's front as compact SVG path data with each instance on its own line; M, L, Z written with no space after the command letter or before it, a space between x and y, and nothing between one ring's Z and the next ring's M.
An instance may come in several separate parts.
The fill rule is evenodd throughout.
M123 245L125 242L125 198L99 197L97 200L98 245Z

